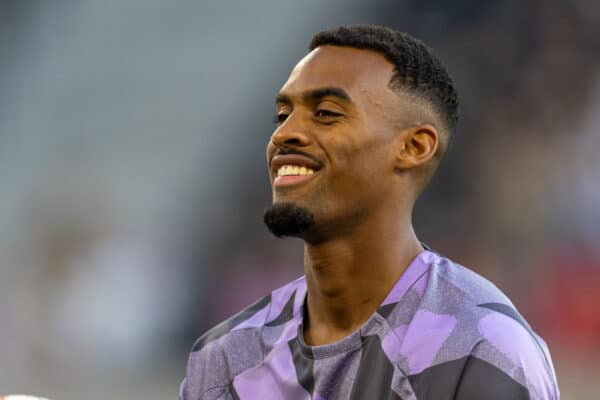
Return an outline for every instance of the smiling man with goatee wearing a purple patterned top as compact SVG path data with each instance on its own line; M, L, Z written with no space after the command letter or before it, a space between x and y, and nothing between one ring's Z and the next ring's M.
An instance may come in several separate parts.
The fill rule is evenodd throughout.
M508 298L413 231L457 119L444 67L378 26L318 33L310 50L277 95L264 216L304 240L305 276L205 333L182 398L558 399Z

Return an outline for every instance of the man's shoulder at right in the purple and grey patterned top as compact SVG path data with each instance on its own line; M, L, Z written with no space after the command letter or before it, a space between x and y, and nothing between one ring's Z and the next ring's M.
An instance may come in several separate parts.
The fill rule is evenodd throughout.
M416 371L421 380L423 371L429 375L452 368L459 382L457 398L475 393L490 399L558 398L546 344L500 289L441 256L432 261L426 279L416 322L427 314L436 322L433 332L444 330L444 340L427 371Z

